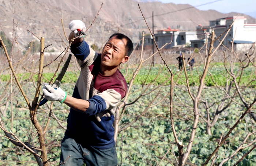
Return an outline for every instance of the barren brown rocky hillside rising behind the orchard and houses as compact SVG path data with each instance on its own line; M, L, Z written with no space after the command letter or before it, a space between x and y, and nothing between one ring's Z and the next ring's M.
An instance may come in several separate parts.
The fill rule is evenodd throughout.
M12 38L13 15L15 27L18 23L18 42L26 45L35 37L46 38L46 45L53 44L55 50L62 50L64 45L55 27L65 40L60 18L64 20L65 30L69 34L68 23L73 19L80 19L89 26L103 2L100 15L87 32L87 41L101 46L110 34L118 31L130 36L137 42L139 32L147 31L146 24L140 13L138 2L133 0L0 0L0 24L9 38ZM13 8L14 6L14 8ZM155 30L166 27L181 30L195 30L197 24L208 25L209 20L234 16L237 13L220 13L215 10L200 11L187 4L163 4L158 1L140 2L144 16L152 27L152 11L154 11ZM182 10L185 9L185 10ZM180 10L180 11L178 11ZM13 11L15 11L13 13ZM242 14L240 14L242 16ZM245 15L248 23L256 23L256 19Z

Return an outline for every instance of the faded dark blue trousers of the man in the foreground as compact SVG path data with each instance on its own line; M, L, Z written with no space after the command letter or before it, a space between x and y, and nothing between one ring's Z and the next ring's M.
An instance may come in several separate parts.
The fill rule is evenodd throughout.
M68 157L71 155L70 157ZM82 147L72 137L65 135L61 141L60 166L116 166L116 147L98 149Z

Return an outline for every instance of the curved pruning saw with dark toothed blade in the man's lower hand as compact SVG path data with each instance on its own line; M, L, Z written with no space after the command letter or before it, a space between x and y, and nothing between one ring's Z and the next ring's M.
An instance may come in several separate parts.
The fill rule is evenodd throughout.
M69 62L70 62L70 60L71 60L71 57L72 57L72 55L69 54L69 56L68 56L66 62L64 63L62 69L60 70L60 73L59 73L58 77L57 77L56 80L53 82L52 87L53 87L54 89L57 89L57 88L60 87L60 81L62 80L62 78L64 77L64 75L65 75L65 73L66 73L66 71L67 71L67 69L68 69L68 65L69 65ZM45 98L42 99L42 100L40 101L40 103L38 104L38 107L40 107L41 105L44 105L45 103L47 103L47 101L48 101L48 100L46 100Z

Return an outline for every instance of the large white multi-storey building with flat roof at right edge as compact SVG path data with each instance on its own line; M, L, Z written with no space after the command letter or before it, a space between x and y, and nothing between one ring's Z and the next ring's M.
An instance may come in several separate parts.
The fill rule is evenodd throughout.
M229 34L224 39L223 45L229 46L232 39L237 41L235 43L237 49L241 48L242 44L248 45L249 43L254 43L256 41L256 24L247 24L247 19L244 16L233 16L212 20L210 21L210 26L197 26L197 39L191 40L191 46L202 47L204 43L206 43L206 38L211 35L212 29L214 29L216 36L220 36L230 27L235 19L236 21L231 27ZM222 35L219 40L222 40L224 36L225 35ZM216 47L218 45L219 41L217 40L214 46Z

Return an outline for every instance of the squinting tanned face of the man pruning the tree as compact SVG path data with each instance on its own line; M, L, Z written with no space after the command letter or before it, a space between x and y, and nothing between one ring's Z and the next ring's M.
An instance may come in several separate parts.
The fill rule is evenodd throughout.
M113 36L108 40L102 50L101 65L102 67L111 70L128 61L126 55L126 39L117 39Z

